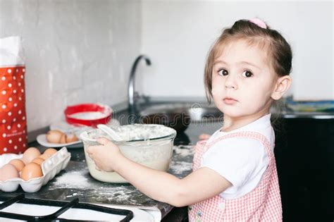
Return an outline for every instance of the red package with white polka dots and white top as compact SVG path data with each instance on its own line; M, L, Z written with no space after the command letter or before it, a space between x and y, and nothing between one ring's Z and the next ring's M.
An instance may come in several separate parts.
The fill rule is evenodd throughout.
M0 154L20 154L27 149L25 65L16 45L20 39L5 40L0 39ZM4 42L16 47L6 49Z

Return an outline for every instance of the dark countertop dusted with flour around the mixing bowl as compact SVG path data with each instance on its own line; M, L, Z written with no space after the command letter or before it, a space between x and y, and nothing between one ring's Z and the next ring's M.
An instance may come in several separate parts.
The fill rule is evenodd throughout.
M119 117L118 119L122 125L128 124L124 122L127 121L128 117L126 111L120 112L114 117ZM191 145L197 142L200 134L211 134L220 127L221 122L218 121L211 123L191 123L185 132L178 132L174 140L173 158L168 172L179 178L183 178L189 174L192 167ZM38 147L41 152L47 149L47 147L42 147L37 142L30 143L29 147ZM135 205L142 206L143 209L157 208L160 209L162 218L173 209L173 206L169 204L157 202L147 197L128 183L103 183L94 180L89 175L83 147L68 148L68 152L70 152L71 158L66 169L58 173L53 180L49 181L38 192L26 193L27 198L70 201L78 197L80 202L92 204ZM13 197L21 192L23 190L19 187L16 192L5 193L0 191L0 196ZM184 214L185 210L183 209L182 212Z

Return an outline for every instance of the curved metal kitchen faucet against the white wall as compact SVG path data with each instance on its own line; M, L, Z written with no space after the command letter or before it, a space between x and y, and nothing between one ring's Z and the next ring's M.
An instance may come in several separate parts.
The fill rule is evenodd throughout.
M136 114L136 100L137 98L135 98L135 73L136 73L136 69L137 69L137 65L140 62L140 60L144 58L146 61L147 66L151 66L151 60L149 60L149 57L145 56L145 55L140 55L136 58L135 62L132 65L131 68L131 73L130 73L130 79L129 79L129 85L128 85L128 99L129 99L129 111L131 114Z

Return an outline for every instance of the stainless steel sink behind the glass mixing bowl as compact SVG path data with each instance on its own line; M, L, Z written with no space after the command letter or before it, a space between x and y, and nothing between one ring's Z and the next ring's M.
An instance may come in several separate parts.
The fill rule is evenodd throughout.
M213 105L199 103L166 103L147 106L140 111L141 123L167 125L178 132L190 123L222 121L223 113Z

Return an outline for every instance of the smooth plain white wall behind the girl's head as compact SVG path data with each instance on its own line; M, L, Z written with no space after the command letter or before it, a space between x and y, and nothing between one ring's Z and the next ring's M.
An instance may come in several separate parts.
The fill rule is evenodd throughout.
M290 42L295 99L334 99L333 1L143 0L138 89L153 97L204 97L206 54L223 27L259 17ZM171 90L173 89L173 90Z

